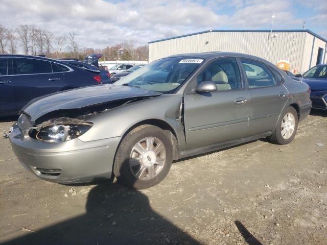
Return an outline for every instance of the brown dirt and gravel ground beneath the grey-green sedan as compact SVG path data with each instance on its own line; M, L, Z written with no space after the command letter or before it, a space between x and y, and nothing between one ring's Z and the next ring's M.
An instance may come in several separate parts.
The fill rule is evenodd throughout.
M183 159L142 191L39 180L1 138L0 243L327 244L327 113L311 114L289 145Z

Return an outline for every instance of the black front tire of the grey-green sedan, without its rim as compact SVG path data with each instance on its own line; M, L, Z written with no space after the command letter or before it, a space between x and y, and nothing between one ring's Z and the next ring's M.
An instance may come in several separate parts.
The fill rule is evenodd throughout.
M166 161L160 172L150 180L140 180L132 173L129 159L135 144L146 138L156 137L164 144ZM173 146L166 131L152 125L142 125L130 131L122 140L116 153L113 174L123 185L134 189L145 189L161 182L168 174L173 162Z

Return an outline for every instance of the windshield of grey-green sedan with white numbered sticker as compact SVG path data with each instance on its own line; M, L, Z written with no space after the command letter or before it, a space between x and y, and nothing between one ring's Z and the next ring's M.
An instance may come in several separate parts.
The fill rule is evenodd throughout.
M173 92L200 66L203 59L165 58L152 62L114 84L159 92Z

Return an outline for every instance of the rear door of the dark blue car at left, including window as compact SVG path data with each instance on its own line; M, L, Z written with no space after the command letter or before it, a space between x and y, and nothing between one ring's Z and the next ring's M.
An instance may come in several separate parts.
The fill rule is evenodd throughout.
M14 59L16 72L13 82L17 111L32 99L59 90L63 75L57 67L58 73L53 73L51 63L53 62L33 58Z

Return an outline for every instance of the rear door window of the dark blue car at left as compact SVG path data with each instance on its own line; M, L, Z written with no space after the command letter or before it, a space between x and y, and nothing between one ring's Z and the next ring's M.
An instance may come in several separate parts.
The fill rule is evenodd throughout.
M18 75L44 74L52 72L51 63L45 60L16 58L16 67Z

